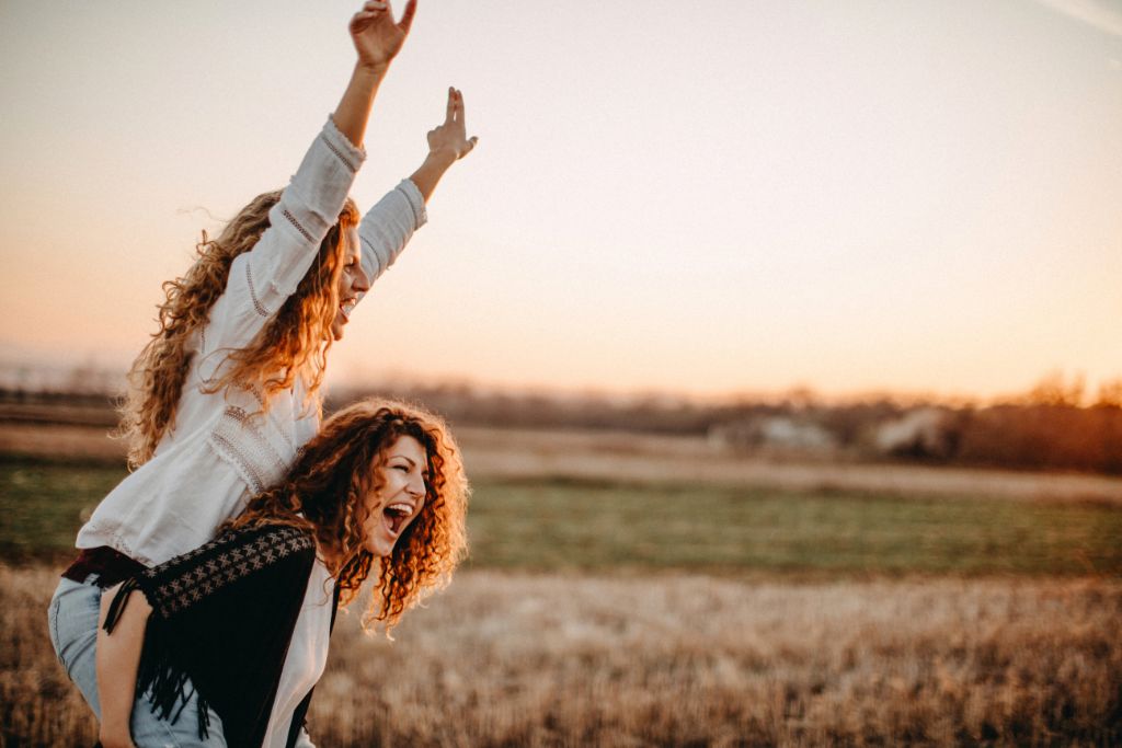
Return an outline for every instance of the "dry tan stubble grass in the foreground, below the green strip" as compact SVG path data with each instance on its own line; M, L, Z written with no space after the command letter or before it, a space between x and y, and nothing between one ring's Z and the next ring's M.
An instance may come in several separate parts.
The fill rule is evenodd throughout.
M0 566L8 746L91 745L47 641L56 570ZM396 641L340 616L321 746L1109 746L1122 583L461 573Z

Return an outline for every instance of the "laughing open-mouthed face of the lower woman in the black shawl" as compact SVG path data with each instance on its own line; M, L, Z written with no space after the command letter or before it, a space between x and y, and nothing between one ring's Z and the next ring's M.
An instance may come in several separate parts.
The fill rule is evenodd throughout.
M362 546L375 556L388 556L424 507L429 461L421 442L401 436L374 462L376 480L365 497Z

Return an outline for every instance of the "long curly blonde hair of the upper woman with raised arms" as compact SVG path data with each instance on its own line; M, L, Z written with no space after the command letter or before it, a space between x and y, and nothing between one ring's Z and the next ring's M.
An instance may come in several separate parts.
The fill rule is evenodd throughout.
M226 292L234 258L252 249L269 228L269 210L278 200L279 190L258 195L217 239L204 231L191 269L164 283L159 330L132 362L116 432L129 443L130 469L151 459L159 441L174 427L191 363L187 342L206 325L211 307ZM318 393L332 341L331 322L339 306L337 286L344 265L347 229L358 222L358 207L348 198L296 292L246 348L230 354L231 366L209 391L231 385L257 387L267 408L273 395L302 377L307 385L305 406L319 407Z

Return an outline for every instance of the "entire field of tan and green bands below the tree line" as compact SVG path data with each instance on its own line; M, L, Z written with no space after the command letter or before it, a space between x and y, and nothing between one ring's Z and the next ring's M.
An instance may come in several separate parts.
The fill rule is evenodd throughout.
M0 425L0 747L95 737L45 610L104 433ZM323 747L1122 745L1122 480L458 434L469 563L340 617Z

